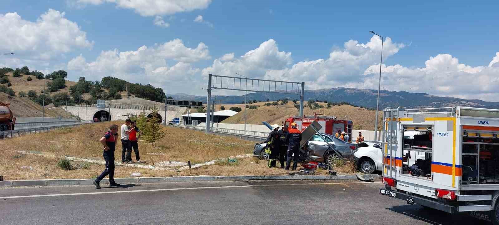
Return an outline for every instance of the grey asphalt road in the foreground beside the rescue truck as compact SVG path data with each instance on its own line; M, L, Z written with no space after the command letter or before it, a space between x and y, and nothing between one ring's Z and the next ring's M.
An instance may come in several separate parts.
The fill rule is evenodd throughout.
M102 187L0 189L0 224L488 224L467 215L451 216L381 196L379 188L384 185L379 182L185 182Z

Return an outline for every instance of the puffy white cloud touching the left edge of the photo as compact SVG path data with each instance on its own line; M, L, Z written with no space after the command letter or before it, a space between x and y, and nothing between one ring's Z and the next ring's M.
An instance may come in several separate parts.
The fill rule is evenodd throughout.
M24 59L48 60L77 48L91 48L86 32L64 12L49 9L36 21L24 20L16 12L0 14L0 50Z

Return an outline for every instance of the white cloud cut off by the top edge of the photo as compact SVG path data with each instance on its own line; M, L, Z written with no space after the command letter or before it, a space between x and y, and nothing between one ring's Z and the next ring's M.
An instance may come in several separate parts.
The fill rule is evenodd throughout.
M205 9L212 0L71 0L72 4L99 5L104 2L114 3L117 7L134 9L142 16L172 15L178 12L188 12Z

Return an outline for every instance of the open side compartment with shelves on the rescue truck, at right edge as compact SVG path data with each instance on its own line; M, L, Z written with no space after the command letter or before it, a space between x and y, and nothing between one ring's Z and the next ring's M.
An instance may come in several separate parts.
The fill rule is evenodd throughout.
M462 184L499 184L499 139L496 132L463 126Z

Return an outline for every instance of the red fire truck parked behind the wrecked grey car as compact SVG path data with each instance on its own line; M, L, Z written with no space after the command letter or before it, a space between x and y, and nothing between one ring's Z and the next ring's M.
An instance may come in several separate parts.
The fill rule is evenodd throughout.
M289 124L294 122L298 128L301 127L301 131L304 131L314 120L322 126L322 129L319 131L320 133L335 135L339 129L346 132L350 137L350 142L352 141L352 121L337 120L334 116L324 116L316 113L313 116L292 116L286 119L286 121L282 121L282 125L286 124L289 126Z

